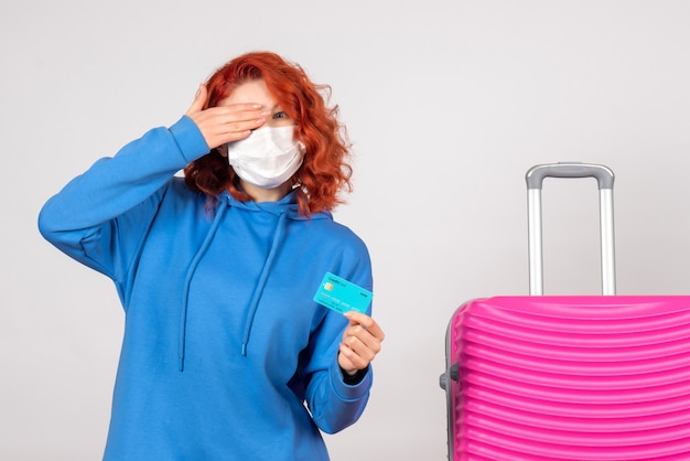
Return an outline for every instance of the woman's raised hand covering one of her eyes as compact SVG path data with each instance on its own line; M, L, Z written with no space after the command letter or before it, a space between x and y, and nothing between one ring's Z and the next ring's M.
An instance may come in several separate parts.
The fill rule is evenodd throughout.
M235 104L204 109L207 98L208 89L202 84L185 115L196 124L208 149L244 139L266 121L268 112L265 112L258 104Z

